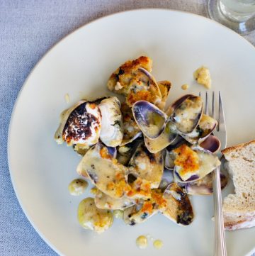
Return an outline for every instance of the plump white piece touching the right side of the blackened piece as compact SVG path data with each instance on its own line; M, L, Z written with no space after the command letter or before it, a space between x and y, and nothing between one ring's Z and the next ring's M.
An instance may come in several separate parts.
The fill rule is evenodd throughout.
M123 117L117 97L103 99L98 105L101 111L101 141L108 147L117 147L123 140Z

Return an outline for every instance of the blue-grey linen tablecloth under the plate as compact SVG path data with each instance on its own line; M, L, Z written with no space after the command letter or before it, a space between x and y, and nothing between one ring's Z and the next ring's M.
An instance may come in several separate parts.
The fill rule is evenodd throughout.
M21 210L7 162L13 104L42 55L76 28L111 13L157 7L206 16L205 4L205 0L0 0L0 255L57 255ZM255 33L246 39L255 45Z

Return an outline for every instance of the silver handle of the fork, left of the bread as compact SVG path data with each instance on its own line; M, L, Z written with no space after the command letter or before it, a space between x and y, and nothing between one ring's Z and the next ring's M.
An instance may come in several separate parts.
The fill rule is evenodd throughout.
M220 167L212 172L213 199L215 208L215 256L227 256L225 230L222 214Z

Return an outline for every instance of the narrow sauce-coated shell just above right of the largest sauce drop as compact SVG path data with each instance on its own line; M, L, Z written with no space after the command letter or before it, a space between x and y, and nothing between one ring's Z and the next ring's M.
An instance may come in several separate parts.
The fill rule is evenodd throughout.
M104 194L98 190L95 196L95 203L97 208L106 210L124 210L130 206L135 205L135 200L123 196L120 199L113 199L111 196Z

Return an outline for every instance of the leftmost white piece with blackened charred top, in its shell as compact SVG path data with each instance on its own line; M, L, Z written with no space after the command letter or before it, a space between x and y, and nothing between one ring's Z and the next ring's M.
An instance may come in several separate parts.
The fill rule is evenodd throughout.
M94 145L101 132L101 112L96 102L79 101L60 115L55 133L58 144Z

